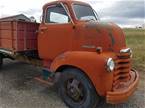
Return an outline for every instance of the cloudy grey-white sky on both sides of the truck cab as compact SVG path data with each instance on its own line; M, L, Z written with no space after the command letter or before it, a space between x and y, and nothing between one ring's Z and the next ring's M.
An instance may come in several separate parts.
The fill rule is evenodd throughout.
M52 0L0 0L0 17L23 13L39 21L42 6ZM145 0L82 0L90 3L100 19L122 27L136 27L145 23Z

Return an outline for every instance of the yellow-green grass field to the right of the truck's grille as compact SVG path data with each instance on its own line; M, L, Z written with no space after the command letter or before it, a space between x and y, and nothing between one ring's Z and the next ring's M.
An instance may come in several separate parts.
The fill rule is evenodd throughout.
M127 45L133 50L133 67L145 73L145 29L124 29Z

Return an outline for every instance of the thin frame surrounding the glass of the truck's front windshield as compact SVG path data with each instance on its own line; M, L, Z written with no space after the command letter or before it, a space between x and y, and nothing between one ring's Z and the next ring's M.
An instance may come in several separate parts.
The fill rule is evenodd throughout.
M75 12L75 10L74 10L74 5L80 5L80 6L90 7L90 8L92 9L93 15L94 15L94 17L95 17L95 21L98 21L98 20L99 20L99 19L97 18L97 16L95 15L95 13L94 13L95 10L94 10L90 5L88 5L88 4L82 4L82 3L72 3L72 4L71 4L71 7L72 7L72 10L73 10L75 19L76 19L77 21L88 21L88 20L81 20L81 19L78 19L77 15L76 15L76 12ZM91 19L90 19L90 20L91 20Z

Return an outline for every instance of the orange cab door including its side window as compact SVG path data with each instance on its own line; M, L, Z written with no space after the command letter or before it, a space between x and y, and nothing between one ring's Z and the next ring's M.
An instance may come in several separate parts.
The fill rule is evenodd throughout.
M57 3L45 10L38 36L38 50L42 59L53 60L65 51L71 50L74 30L66 9L66 6Z

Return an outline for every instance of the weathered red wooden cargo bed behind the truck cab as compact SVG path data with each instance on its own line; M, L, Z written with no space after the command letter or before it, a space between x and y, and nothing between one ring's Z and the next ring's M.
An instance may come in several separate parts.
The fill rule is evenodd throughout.
M1 21L0 48L12 52L37 50L38 28L38 23Z

